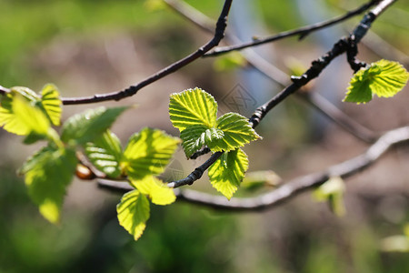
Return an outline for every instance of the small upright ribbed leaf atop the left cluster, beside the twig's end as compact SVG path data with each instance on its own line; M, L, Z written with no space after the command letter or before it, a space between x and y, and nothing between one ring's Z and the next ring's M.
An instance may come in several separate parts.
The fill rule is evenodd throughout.
M55 126L60 126L62 102L56 86L51 84L44 86L41 91L41 104L45 109L46 115L50 118L51 123Z

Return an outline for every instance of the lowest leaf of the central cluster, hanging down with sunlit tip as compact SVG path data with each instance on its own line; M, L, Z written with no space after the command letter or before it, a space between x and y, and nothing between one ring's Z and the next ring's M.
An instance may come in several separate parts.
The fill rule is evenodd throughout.
M247 168L248 158L242 149L225 152L209 167L210 182L224 197L230 199L240 186Z

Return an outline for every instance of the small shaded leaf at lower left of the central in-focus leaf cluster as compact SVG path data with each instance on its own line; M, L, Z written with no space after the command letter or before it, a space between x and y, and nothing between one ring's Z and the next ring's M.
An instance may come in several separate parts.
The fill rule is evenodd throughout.
M191 157L201 147L214 143L223 136L222 130L217 128L209 129L203 125L188 126L180 133L187 158Z

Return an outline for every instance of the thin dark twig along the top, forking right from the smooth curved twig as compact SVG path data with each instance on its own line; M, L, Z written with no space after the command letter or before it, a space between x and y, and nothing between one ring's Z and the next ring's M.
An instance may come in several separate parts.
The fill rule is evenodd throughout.
M338 17L335 17L333 19L321 22L321 23L316 23L314 25L306 25L294 30L289 30L289 31L285 31L282 33L279 33L277 35L273 35L273 36L269 36L269 37L265 37L265 38L257 38L256 40L252 41L252 42L247 42L247 43L243 43L240 45L228 45L228 46L221 46L221 47L216 47L214 48L214 50L208 52L207 54L205 54L205 56L219 56L234 50L241 50L247 47L252 47L255 45L263 45L266 43L271 43L277 40L281 40L287 37L291 37L294 35L300 35L300 39L304 38L306 35L309 35L310 33L319 30L319 29L323 29L325 27L328 27L330 25L335 25L338 24L346 19L349 19L351 17L353 17L354 15L360 15L362 13L364 13L364 11L366 11L368 8L370 8L372 5L375 5L379 2L379 0L373 0L370 1L364 5L361 5L360 7L346 13L345 15L341 15Z

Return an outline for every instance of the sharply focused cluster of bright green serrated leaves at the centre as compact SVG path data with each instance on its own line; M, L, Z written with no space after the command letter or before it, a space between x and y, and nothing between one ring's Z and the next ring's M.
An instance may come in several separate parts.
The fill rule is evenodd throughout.
M180 130L186 157L205 146L212 152L224 151L208 173L216 190L228 199L233 197L248 168L248 158L240 147L260 138L247 118L237 113L217 118L214 97L197 87L171 95L169 114Z

